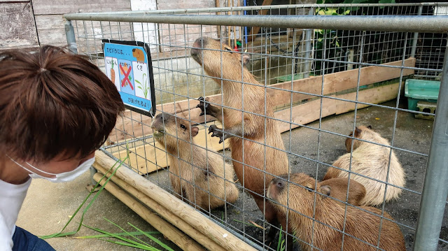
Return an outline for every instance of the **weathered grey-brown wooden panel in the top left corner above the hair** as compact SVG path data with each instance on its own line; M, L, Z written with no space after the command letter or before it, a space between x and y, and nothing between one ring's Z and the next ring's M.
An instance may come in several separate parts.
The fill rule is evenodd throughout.
M27 2L0 3L0 50L38 45L36 26Z

